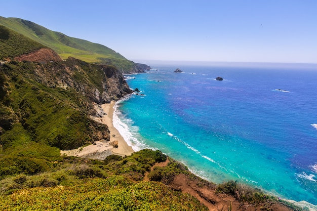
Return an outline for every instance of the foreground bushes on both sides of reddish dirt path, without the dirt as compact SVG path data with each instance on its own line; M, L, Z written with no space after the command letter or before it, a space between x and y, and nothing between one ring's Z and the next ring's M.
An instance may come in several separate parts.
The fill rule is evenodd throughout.
M41 153L34 155L34 159L40 157ZM242 205L271 210L273 204L284 203L293 210L304 210L234 181L216 186L172 158L164 167L153 167L166 159L162 152L149 149L127 157L111 155L104 161L42 158L46 163L42 173L17 172L0 180L0 210L208 210L191 195L169 188L180 174L199 187L230 194ZM143 181L146 172L150 182Z

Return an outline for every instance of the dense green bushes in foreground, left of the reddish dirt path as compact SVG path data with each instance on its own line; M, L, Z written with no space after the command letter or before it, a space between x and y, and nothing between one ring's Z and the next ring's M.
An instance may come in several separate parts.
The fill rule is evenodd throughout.
M166 158L148 149L105 161L64 157L44 173L1 180L0 210L208 210L161 182L142 182Z

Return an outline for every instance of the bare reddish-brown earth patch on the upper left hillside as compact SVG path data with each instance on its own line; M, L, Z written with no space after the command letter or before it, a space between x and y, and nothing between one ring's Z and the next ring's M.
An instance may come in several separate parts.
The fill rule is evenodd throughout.
M14 58L15 60L21 61L33 61L33 62L50 62L50 61L62 61L55 51L49 48L42 48L33 51L28 54L23 54Z

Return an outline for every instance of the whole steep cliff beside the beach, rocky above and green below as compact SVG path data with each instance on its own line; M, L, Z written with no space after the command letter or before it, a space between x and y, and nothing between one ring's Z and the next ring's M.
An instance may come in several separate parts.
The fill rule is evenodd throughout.
M109 140L94 105L132 93L112 66L69 58L16 62L0 67L0 148L23 140L73 149Z

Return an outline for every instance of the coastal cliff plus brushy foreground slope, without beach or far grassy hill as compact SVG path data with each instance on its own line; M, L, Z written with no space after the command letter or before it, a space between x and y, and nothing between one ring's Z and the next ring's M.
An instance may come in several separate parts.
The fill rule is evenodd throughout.
M290 210L235 182L216 186L158 150L103 160L61 156L61 149L108 142L108 126L94 120L106 114L96 105L132 91L114 66L61 61L47 47L2 29L1 210Z

